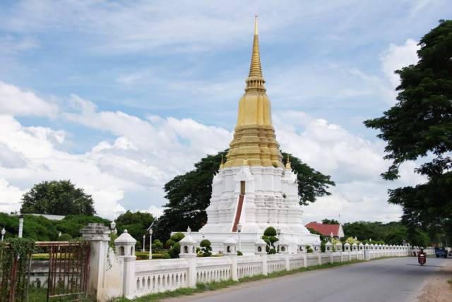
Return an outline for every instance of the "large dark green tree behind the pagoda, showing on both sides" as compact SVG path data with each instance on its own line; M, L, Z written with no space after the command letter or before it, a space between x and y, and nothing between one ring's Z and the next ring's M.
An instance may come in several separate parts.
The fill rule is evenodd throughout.
M194 231L200 229L207 222L206 207L212 195L212 180L218 171L222 157L226 157L227 150L217 155L207 155L201 162L195 164L195 169L186 174L174 177L165 184L164 214L155 225L155 234L161 240L169 236L169 231L185 231L191 227ZM287 153L283 153L284 162ZM316 198L330 195L329 186L335 186L331 176L323 175L304 164L297 157L290 157L292 169L298 175L299 203L307 205L314 203Z

